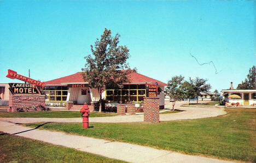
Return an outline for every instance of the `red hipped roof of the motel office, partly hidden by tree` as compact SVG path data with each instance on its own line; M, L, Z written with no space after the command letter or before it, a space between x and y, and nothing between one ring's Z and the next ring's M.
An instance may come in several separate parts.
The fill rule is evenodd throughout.
M152 79L150 77L141 75L139 73L132 73L130 74L131 83L146 83L146 82L158 82L159 85L167 86L166 83ZM46 85L54 85L54 84L63 84L63 83L84 83L82 72L75 73L73 75L61 77L59 79L54 79L50 81L46 81Z

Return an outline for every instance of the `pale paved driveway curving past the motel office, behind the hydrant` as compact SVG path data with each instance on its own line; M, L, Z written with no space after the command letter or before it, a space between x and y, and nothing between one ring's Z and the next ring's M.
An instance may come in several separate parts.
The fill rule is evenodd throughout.
M181 105L184 104L188 104L188 101L177 101L174 108L178 110L183 110L183 112L172 114L160 114L160 121L209 118L226 114L226 112L224 111L224 107L181 107ZM172 108L171 102L166 101L165 108ZM0 118L0 120L12 123L82 122L82 118ZM89 117L89 122L100 123L132 123L143 122L143 120L143 114L114 117Z

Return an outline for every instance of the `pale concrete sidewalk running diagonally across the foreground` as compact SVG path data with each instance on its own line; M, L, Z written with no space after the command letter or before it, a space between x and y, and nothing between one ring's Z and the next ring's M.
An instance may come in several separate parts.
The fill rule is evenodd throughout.
M0 131L127 162L231 162L204 158L201 156L185 155L168 150L159 150L129 143L111 142L91 137L68 135L63 132L31 129L3 121L0 121Z

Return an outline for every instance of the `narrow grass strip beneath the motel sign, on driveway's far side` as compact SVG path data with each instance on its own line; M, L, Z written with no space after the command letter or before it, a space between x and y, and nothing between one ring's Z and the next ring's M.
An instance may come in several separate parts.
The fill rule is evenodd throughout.
M116 113L90 112L90 117L110 117L116 116ZM81 118L79 111L38 111L38 112L15 112L10 113L6 110L0 110L2 118Z

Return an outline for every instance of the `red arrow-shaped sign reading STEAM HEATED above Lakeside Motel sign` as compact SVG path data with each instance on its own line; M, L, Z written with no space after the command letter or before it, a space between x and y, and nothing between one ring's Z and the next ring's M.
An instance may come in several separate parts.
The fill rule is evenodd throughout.
M25 82L28 82L31 84L36 84L39 87L43 87L43 88L45 87L44 82L40 82L40 81L33 80L33 79L23 76L23 75L19 75L19 74L17 74L16 71L13 71L10 69L8 69L8 74L6 75L6 77L9 77L10 79L19 79L19 80L22 80L22 81L25 81Z

